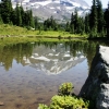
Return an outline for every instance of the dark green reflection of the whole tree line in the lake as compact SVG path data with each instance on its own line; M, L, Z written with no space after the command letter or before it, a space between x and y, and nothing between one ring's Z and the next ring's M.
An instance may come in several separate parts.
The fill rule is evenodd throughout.
M88 66L90 65L92 59L96 51L97 45L106 45L105 43L99 41L64 41L62 43L62 47L64 50L70 50L70 55L72 57L83 55L87 58ZM11 46L4 46L0 48L0 65L4 66L4 69L8 71L10 68L12 68L13 60L16 60L17 63L23 64L23 58L25 57L28 59L32 57L34 49L40 46L44 46L43 53L46 53L46 50L49 49L56 49L58 50L59 43L27 43L27 44L16 44ZM61 51L63 48L59 48ZM36 49L37 51L37 49ZM40 55L41 56L41 55Z

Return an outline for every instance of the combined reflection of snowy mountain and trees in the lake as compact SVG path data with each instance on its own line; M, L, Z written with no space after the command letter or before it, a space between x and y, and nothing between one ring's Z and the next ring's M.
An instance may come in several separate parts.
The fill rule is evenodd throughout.
M16 60L23 65L29 64L37 70L56 74L84 61L85 58L89 66L98 44L98 41L66 41L5 46L0 48L0 66L9 71L13 60Z

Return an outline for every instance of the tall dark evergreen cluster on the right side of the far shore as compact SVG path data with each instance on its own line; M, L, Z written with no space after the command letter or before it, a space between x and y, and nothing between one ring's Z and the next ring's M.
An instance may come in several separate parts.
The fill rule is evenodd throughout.
M104 10L100 0L93 0L90 12L81 17L75 10L65 27L73 34L88 34L89 38L109 37L109 4Z

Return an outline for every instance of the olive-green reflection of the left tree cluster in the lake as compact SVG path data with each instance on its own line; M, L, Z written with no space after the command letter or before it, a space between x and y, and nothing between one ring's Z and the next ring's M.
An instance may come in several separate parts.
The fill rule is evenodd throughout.
M12 68L13 60L21 63L23 57L31 57L33 51L33 45L31 44L17 44L11 46L4 46L0 48L0 64L4 66L7 71Z

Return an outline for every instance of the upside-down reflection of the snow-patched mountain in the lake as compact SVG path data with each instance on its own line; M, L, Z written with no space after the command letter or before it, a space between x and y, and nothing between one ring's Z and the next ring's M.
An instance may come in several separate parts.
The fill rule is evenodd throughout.
M70 53L70 47L65 48L63 44L52 48L40 45L35 47L33 55L28 59L23 58L22 64L28 64L47 74L59 74L84 60L85 57L81 52L73 57Z

